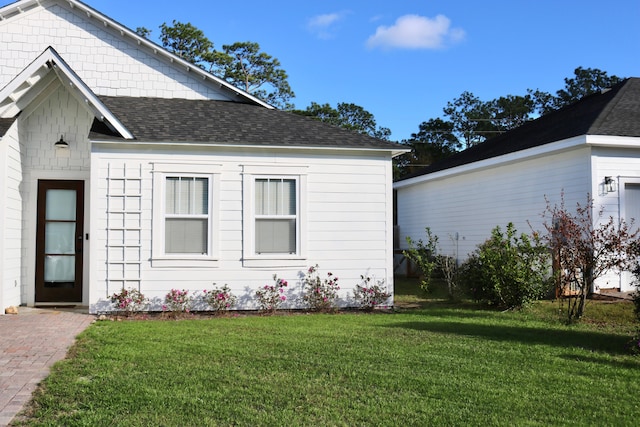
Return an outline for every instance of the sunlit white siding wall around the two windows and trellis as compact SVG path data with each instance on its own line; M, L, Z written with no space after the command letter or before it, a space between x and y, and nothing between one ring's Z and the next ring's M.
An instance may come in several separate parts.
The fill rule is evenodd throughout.
M219 150L219 149L218 149ZM91 279L92 311L108 308L106 296L117 291L106 287L106 218L104 212L105 182L109 169L140 168L142 170L142 224L141 233L141 291L158 303L172 288L201 291L211 289L212 283L228 284L238 296L240 309L254 309L255 290L272 283L273 274L286 279L288 307L296 305L301 292L300 275L311 265L318 264L321 274L332 272L341 283L341 304L348 305L348 297L359 282L361 274L386 280L393 284L392 265L392 210L389 186L391 165L388 157L371 155L298 155L265 150L255 155L228 149L198 157L180 152L159 154L119 154L98 150L92 164L94 217L92 222L91 251L96 267ZM335 154L335 153L333 153ZM151 219L153 162L184 162L189 171L190 162L202 163L206 158L212 164L221 164L219 186L219 262L217 267L154 267L151 253ZM307 166L307 259L295 267L245 267L243 256L243 200L242 170L244 165ZM175 169L175 168L174 168ZM277 262L275 263L277 264ZM159 306L156 304L156 309Z

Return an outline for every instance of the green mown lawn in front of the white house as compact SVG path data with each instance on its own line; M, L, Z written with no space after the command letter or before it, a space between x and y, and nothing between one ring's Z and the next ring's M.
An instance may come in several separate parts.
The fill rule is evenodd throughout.
M414 289L398 283L417 307L395 313L98 322L20 423L637 425L632 304L566 326L557 303L496 312Z

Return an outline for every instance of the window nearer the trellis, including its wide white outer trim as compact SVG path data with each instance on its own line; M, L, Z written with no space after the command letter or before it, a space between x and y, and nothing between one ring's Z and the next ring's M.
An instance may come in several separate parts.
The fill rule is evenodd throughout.
M217 265L219 168L154 164L153 266Z

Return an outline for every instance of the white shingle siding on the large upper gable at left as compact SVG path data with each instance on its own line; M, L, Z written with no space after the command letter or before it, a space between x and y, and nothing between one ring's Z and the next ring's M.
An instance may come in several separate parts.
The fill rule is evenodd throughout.
M0 20L0 87L52 46L98 95L228 99L81 11L51 5Z

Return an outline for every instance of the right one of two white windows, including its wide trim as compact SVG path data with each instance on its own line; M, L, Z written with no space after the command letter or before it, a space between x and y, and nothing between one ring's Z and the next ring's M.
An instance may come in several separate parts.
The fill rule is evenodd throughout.
M304 265L306 168L245 166L243 264Z

